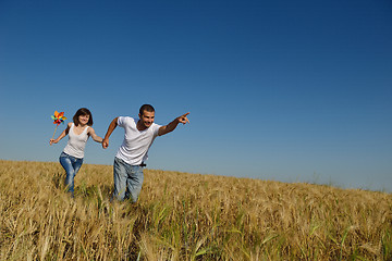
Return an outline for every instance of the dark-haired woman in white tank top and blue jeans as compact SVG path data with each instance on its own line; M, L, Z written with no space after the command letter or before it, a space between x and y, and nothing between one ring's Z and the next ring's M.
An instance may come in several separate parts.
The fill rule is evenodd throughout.
M59 160L66 172L65 185L72 197L74 197L74 178L83 164L84 149L88 137L91 136L99 144L102 142L102 138L97 136L90 126L93 126L91 112L86 108L81 108L73 116L73 123L69 123L57 139L50 139L49 141L50 145L57 144L69 135L69 141Z

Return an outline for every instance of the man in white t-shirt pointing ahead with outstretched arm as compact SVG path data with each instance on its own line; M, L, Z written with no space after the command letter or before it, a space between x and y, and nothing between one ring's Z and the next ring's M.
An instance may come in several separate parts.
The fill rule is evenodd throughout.
M102 148L109 146L109 137L117 126L124 128L124 140L119 148L113 165L114 191L113 198L122 201L131 198L133 202L142 190L143 167L148 156L148 149L151 147L157 136L166 135L173 132L179 123L189 123L185 113L168 125L161 126L154 123L155 109L150 104L144 104L139 109L139 119L128 116L115 117L109 125L108 132L102 141Z

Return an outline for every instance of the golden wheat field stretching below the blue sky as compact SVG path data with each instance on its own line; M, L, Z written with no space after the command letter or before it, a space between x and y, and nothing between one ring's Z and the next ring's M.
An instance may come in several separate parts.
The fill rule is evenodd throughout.
M111 202L112 166L75 198L56 162L0 160L1 260L392 260L392 195L145 170Z

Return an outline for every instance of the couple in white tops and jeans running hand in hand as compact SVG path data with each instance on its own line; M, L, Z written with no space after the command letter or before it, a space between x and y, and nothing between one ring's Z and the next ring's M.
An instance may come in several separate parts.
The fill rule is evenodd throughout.
M146 166L148 149L158 136L168 134L176 128L179 123L189 123L185 113L167 125L154 123L155 109L150 104L144 104L139 109L138 119L130 116L118 116L113 119L108 127L105 138L96 135L93 126L93 114L86 108L77 110L73 116L73 122L57 139L50 139L50 145L59 142L69 135L69 141L60 154L60 164L66 172L65 185L71 196L74 196L74 177L83 164L84 149L89 137L102 144L106 149L109 146L109 137L117 126L124 128L124 140L120 146L113 164L114 191L113 198L122 201L132 199L133 202L142 190L144 174L143 167Z

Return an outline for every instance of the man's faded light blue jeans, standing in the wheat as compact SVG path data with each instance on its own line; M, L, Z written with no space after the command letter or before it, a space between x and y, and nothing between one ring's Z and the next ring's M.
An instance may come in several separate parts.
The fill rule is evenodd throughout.
M143 166L130 165L123 160L114 158L113 179L113 198L120 201L128 198L133 202L137 201L144 179Z

